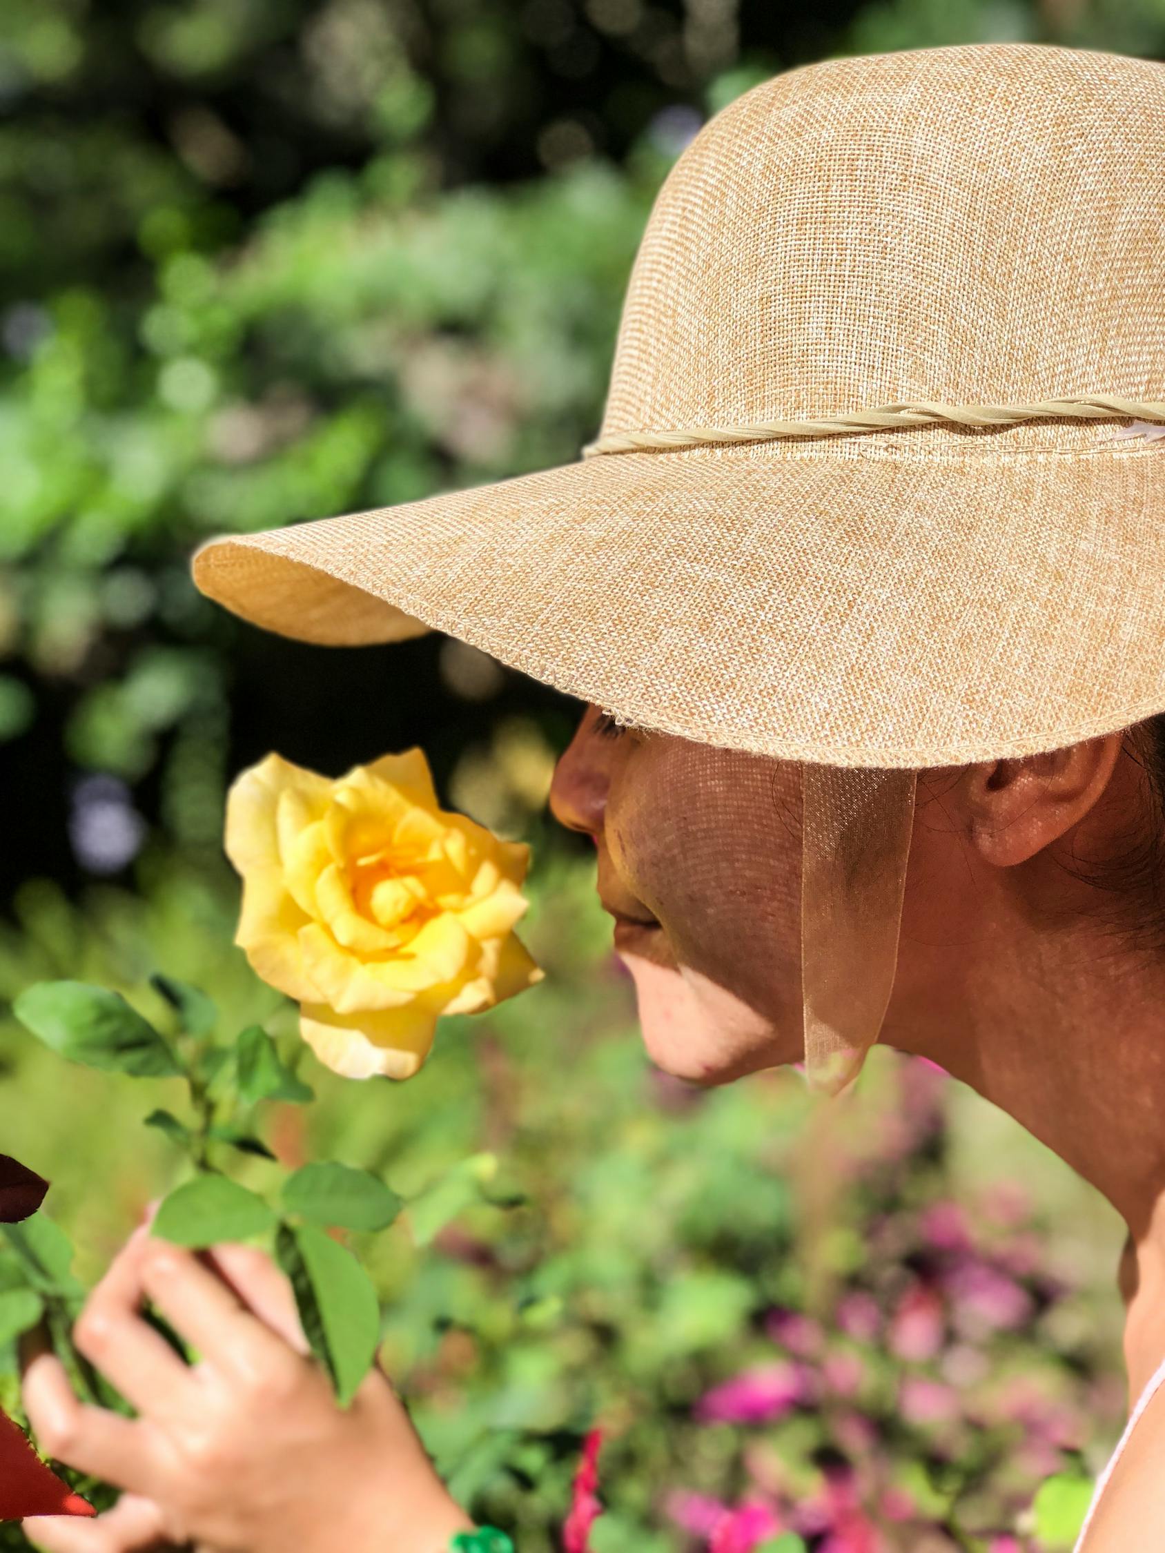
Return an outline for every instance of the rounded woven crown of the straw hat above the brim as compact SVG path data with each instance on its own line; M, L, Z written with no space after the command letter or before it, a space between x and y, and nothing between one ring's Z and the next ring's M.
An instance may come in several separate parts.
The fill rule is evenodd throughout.
M603 435L920 399L1165 398L1163 144L1165 65L1090 50L906 50L753 87L656 199ZM730 453L1072 450L1098 435L943 424Z

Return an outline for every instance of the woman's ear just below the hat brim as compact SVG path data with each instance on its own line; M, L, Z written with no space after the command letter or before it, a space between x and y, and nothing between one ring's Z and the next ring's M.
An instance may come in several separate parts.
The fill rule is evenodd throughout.
M1104 733L1047 755L969 766L969 839L980 857L1013 868L1059 840L1108 787L1122 739Z

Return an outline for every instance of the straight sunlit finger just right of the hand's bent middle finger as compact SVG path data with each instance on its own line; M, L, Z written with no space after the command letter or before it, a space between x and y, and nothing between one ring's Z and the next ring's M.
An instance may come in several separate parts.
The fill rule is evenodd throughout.
M174 1331L217 1370L252 1379L259 1370L286 1365L283 1337L180 1246L152 1239L141 1261L141 1284Z

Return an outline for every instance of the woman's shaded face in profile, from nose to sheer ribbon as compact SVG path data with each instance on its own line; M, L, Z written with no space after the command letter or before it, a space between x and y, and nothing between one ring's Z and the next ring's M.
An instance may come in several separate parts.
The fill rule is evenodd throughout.
M798 1061L798 767L589 705L550 808L595 840L652 1061L699 1084Z

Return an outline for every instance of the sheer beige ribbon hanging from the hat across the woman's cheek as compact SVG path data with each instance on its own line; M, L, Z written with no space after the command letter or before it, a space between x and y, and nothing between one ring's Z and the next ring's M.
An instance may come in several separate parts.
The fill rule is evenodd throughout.
M802 766L805 1078L837 1095L878 1039L898 968L913 770Z

